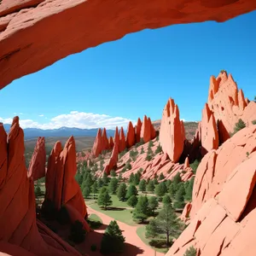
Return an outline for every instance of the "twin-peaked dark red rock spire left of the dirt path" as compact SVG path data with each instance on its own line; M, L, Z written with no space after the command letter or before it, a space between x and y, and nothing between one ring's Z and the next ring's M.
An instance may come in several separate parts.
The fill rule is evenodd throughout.
M73 220L80 217L84 228L89 231L89 226L84 221L87 213L84 198L79 184L74 179L76 172L75 141L70 137L63 150L61 143L57 142L49 155L45 199L54 202L58 210L61 206L66 206L70 217Z

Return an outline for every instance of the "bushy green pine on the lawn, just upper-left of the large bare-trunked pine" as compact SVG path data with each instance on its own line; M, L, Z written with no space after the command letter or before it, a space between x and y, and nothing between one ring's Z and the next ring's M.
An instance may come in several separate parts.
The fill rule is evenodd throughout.
M148 197L141 195L138 198L137 205L133 211L132 218L139 222L144 222L144 220L148 218L149 212L150 210L148 208Z

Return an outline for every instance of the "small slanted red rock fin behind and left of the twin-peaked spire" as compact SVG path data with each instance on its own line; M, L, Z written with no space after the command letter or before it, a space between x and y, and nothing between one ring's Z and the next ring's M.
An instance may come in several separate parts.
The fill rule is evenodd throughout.
M46 153L44 145L44 137L38 137L38 142L32 154L32 159L28 167L28 177L38 180L45 176Z

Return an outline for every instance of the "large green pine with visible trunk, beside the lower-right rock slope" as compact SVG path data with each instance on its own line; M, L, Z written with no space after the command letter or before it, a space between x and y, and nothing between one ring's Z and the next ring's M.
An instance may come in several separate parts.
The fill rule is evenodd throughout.
M151 232L157 232L158 234L166 235L166 245L170 245L170 236L176 237L181 233L181 224L176 213L172 209L171 205L164 205L163 209L159 212L156 223L150 223L148 230Z

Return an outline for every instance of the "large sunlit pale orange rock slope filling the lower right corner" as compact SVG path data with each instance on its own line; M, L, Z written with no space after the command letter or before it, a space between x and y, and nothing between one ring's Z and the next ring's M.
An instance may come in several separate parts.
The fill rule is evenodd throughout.
M255 255L255 183L253 125L201 160L195 176L191 222L166 255L182 256L190 246L201 256Z

